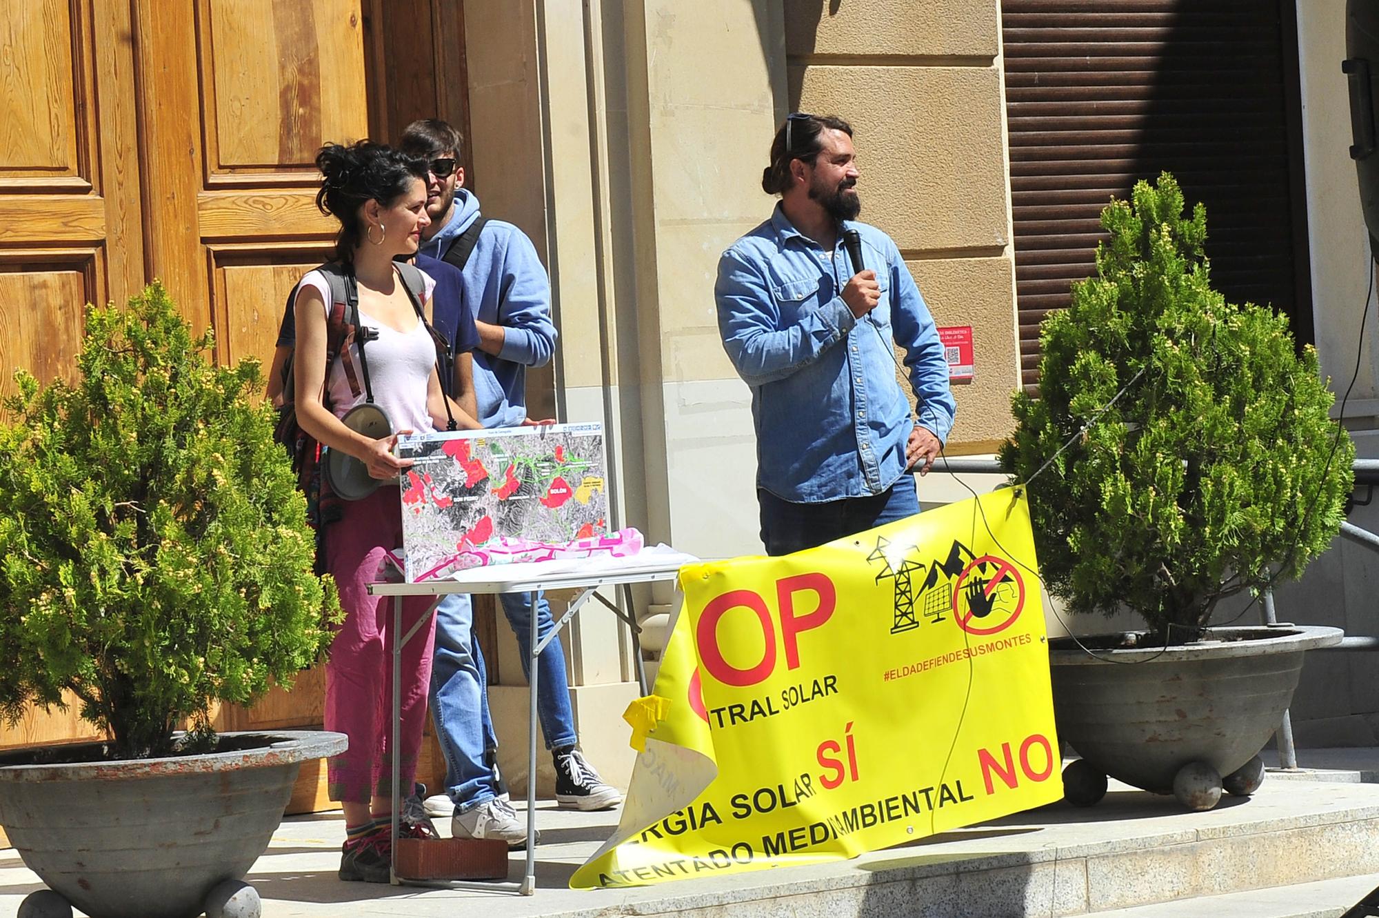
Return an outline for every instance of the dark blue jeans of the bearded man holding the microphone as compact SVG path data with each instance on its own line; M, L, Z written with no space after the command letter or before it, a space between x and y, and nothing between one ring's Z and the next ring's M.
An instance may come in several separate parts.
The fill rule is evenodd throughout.
M758 488L757 503L761 504L761 542L771 555L814 549L920 511L910 473L870 498L793 503Z

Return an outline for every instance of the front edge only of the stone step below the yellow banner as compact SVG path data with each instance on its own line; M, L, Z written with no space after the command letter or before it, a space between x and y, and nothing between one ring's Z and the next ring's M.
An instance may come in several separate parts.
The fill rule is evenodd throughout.
M1260 823L1271 826L1263 831L1156 833L1110 845L957 855L925 863L914 863L924 857L923 853L920 857L903 857L914 849L889 849L844 861L854 867L847 873L809 877L804 873L809 867L783 867L741 874L734 878L735 884L729 889L696 889L681 895L676 895L672 885L666 884L658 888L661 897L656 899L623 899L637 890L618 895L621 901L616 903L616 912L610 912L614 903L604 900L592 908L553 912L547 918L607 918L608 914L690 918L701 912L718 915L718 910L725 906L765 899L808 899L811 908L823 908L819 914L880 917L891 912L858 910L863 903L849 900L884 900L887 896L878 895L883 886L907 890L905 901L923 886L923 895L938 907L910 914L925 918L952 914L1100 915L1117 908L1172 906L1200 897L1379 874L1379 815L1373 809L1360 806L1335 813L1278 817ZM1358 817L1322 819L1351 815ZM1248 846L1248 859L1231 856L1233 852L1229 850L1241 845ZM1267 852L1266 848L1276 850ZM1309 848L1321 852L1317 859L1322 861L1321 866L1307 867L1306 859L1299 856ZM902 857L895 857L898 853ZM1294 874L1282 874L1277 882L1258 882L1262 878L1244 870L1233 874L1218 870L1222 864L1245 861L1271 863L1276 870L1291 868ZM1335 864L1346 867L1333 868ZM1218 877L1223 882L1211 888L1201 882L1205 877ZM1135 889L1136 879L1143 881L1139 884L1142 892ZM1194 879L1198 882L1194 884Z

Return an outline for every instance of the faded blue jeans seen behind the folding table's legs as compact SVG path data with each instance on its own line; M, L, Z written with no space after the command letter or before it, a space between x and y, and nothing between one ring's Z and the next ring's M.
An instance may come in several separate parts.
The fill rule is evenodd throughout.
M499 602L517 634L523 673L530 678L531 611L528 594L505 593ZM550 604L536 594L538 641L554 622ZM565 652L560 638L542 651L538 662L536 715L546 748L574 746L575 715L570 707ZM436 609L436 653L432 660L430 708L436 739L445 755L445 793L456 812L466 812L496 797L496 776L487 753L498 748L488 711L488 673L474 637L474 609L470 597L452 594Z

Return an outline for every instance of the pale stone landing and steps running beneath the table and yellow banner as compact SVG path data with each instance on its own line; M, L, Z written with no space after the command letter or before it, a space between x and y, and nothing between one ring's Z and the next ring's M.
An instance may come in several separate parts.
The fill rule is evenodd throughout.
M634 889L565 888L616 819L539 804L531 897L473 884L341 884L343 826L334 813L285 820L248 879L263 895L265 918L1302 918L1340 915L1379 886L1379 784L1365 783L1266 780L1255 797L1226 798L1207 813L1113 786L1089 809L1056 804L855 860ZM521 855L512 856L509 881L521 870ZM0 918L12 918L36 888L14 852L0 852Z

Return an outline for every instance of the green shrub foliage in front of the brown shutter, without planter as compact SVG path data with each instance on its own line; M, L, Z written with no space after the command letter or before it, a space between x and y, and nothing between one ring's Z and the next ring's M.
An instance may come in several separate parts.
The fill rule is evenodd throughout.
M1327 549L1354 445L1342 436L1327 470L1316 351L1296 356L1282 316L1212 291L1205 208L1186 218L1168 174L1131 197L1102 211L1096 276L1044 321L1040 397L1015 394L1001 463L1025 481L1078 434L1029 489L1049 590L1074 612L1124 604L1180 642L1223 597Z

